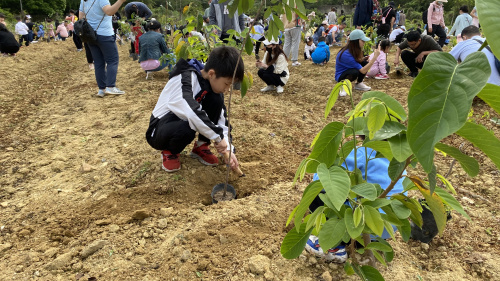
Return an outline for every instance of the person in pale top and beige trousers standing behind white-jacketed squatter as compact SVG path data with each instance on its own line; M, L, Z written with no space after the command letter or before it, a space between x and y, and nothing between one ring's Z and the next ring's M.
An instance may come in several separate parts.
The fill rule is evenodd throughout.
M285 27L285 46L283 46L283 51L287 57L292 58L292 66L299 66L299 45L302 34L300 28L300 18L295 12L292 13L291 21L288 21L285 14L282 14L280 18L283 22L283 26Z

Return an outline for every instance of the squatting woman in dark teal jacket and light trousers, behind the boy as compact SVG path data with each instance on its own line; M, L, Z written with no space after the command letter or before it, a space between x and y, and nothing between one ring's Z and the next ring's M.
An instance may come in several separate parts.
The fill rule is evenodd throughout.
M161 34L161 24L158 21L148 23L148 32L139 37L139 63L146 72L160 71L169 66L168 61L160 62L163 54L170 51Z

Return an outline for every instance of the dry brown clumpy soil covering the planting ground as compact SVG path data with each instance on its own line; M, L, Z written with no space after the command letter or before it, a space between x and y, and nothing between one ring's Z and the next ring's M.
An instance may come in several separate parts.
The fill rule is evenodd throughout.
M204 166L188 157L187 147L180 171L161 169L160 153L144 134L167 73L145 80L127 47L119 50L117 86L127 93L104 99L95 97L94 73L71 41L38 43L0 58L0 280L354 278L308 254L285 260L279 252L287 217L310 181L292 186L295 170L327 124L322 116L333 63L301 60L290 68L283 94L261 94L254 60L245 57L255 83L245 98L233 97L232 124L247 176L231 175L237 200L212 205L210 192L225 180L225 166ZM392 77L367 84L406 104L411 82ZM328 120L345 121L348 112L341 99ZM487 112L498 117L474 103L475 122L499 137ZM478 159L480 174L469 178L456 165L449 179L472 221L454 213L429 245L390 241L395 259L380 266L387 280L499 278L498 170L470 144L463 149ZM442 174L450 163L437 156Z

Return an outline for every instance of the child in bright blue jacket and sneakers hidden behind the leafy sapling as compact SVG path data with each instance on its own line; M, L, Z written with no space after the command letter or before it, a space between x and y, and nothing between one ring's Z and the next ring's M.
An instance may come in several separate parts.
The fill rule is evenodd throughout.
M368 183L379 184L382 189L386 189L391 183L391 178L389 178L389 175L387 174L387 169L389 168L390 161L387 158L376 158L376 154L377 151L371 148L358 147L356 149L356 153L354 150L351 151L342 166L349 171L354 171L355 168L359 169L361 171L361 174L363 175L363 179L365 179ZM404 171L403 174L406 175L406 171ZM319 180L317 174L314 174L313 180ZM394 185L394 188L389 191L387 197L390 198L391 195L402 193L403 191L403 179L401 178ZM323 205L323 201L319 198L319 196L316 196L311 205L309 205L309 210L312 213L318 207L321 207ZM382 239L388 239L390 237L390 234L386 229L384 229L384 232L382 233ZM330 262L344 263L347 260L345 243L341 242L339 246L329 249L326 253L324 253L318 241L318 237L310 235L306 244L306 251L316 255L317 257L324 258L325 260Z

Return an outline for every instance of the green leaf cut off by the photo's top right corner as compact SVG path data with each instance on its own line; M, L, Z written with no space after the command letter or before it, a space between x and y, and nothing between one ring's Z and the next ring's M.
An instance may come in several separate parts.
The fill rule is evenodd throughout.
M477 14L488 43L497 58L500 58L500 5L498 0L476 1Z

